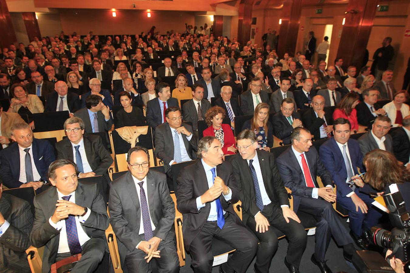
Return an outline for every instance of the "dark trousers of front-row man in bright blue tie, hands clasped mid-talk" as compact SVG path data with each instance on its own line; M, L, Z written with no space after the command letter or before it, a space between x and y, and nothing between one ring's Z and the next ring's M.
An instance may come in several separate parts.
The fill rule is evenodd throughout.
M226 215L228 214L228 215ZM246 229L245 226L239 225L234 216L229 212L225 213L225 225L220 229L216 221L207 221L198 235L194 238L189 246L189 253L192 258L192 267L195 273L209 273L212 271L212 238L215 237L232 248L236 248L232 257L226 264L223 264L223 270L226 273L244 273L246 268L252 262L257 250L257 239Z

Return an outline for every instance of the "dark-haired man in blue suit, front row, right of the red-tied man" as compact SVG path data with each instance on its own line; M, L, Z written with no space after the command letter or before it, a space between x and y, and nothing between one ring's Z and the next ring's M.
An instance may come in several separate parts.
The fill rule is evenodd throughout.
M348 210L353 237L361 248L365 248L367 230L378 223L381 214L371 205L374 200L368 194L348 184L348 181L358 176L358 168L360 172L365 171L359 143L349 139L350 128L351 124L348 120L344 118L335 120L334 136L320 146L319 154L336 183L337 202ZM370 186L365 184L365 187ZM367 192L369 191L370 189L367 189Z

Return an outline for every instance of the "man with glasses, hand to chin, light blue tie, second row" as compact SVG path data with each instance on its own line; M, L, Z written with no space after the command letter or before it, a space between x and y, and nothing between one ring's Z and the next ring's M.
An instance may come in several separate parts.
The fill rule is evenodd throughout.
M178 107L167 108L165 119L166 122L155 130L155 156L164 161L165 172L172 177L171 165L196 159L198 139L192 127L182 123Z

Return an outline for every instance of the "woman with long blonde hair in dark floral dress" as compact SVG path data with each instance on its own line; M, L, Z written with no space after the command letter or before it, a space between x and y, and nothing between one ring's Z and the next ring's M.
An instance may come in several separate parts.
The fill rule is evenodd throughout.
M273 147L273 126L269 122L269 104L260 103L253 112L253 118L242 126L242 130L251 129L255 132L258 149L270 151Z

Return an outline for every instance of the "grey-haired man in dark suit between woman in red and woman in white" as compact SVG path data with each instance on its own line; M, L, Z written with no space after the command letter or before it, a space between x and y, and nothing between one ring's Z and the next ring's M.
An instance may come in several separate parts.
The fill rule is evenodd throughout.
M356 106L358 122L361 125L367 126L368 129L371 129L374 119L378 115L386 115L386 111L376 105L379 95L378 90L374 88L365 89L362 95L363 102Z

